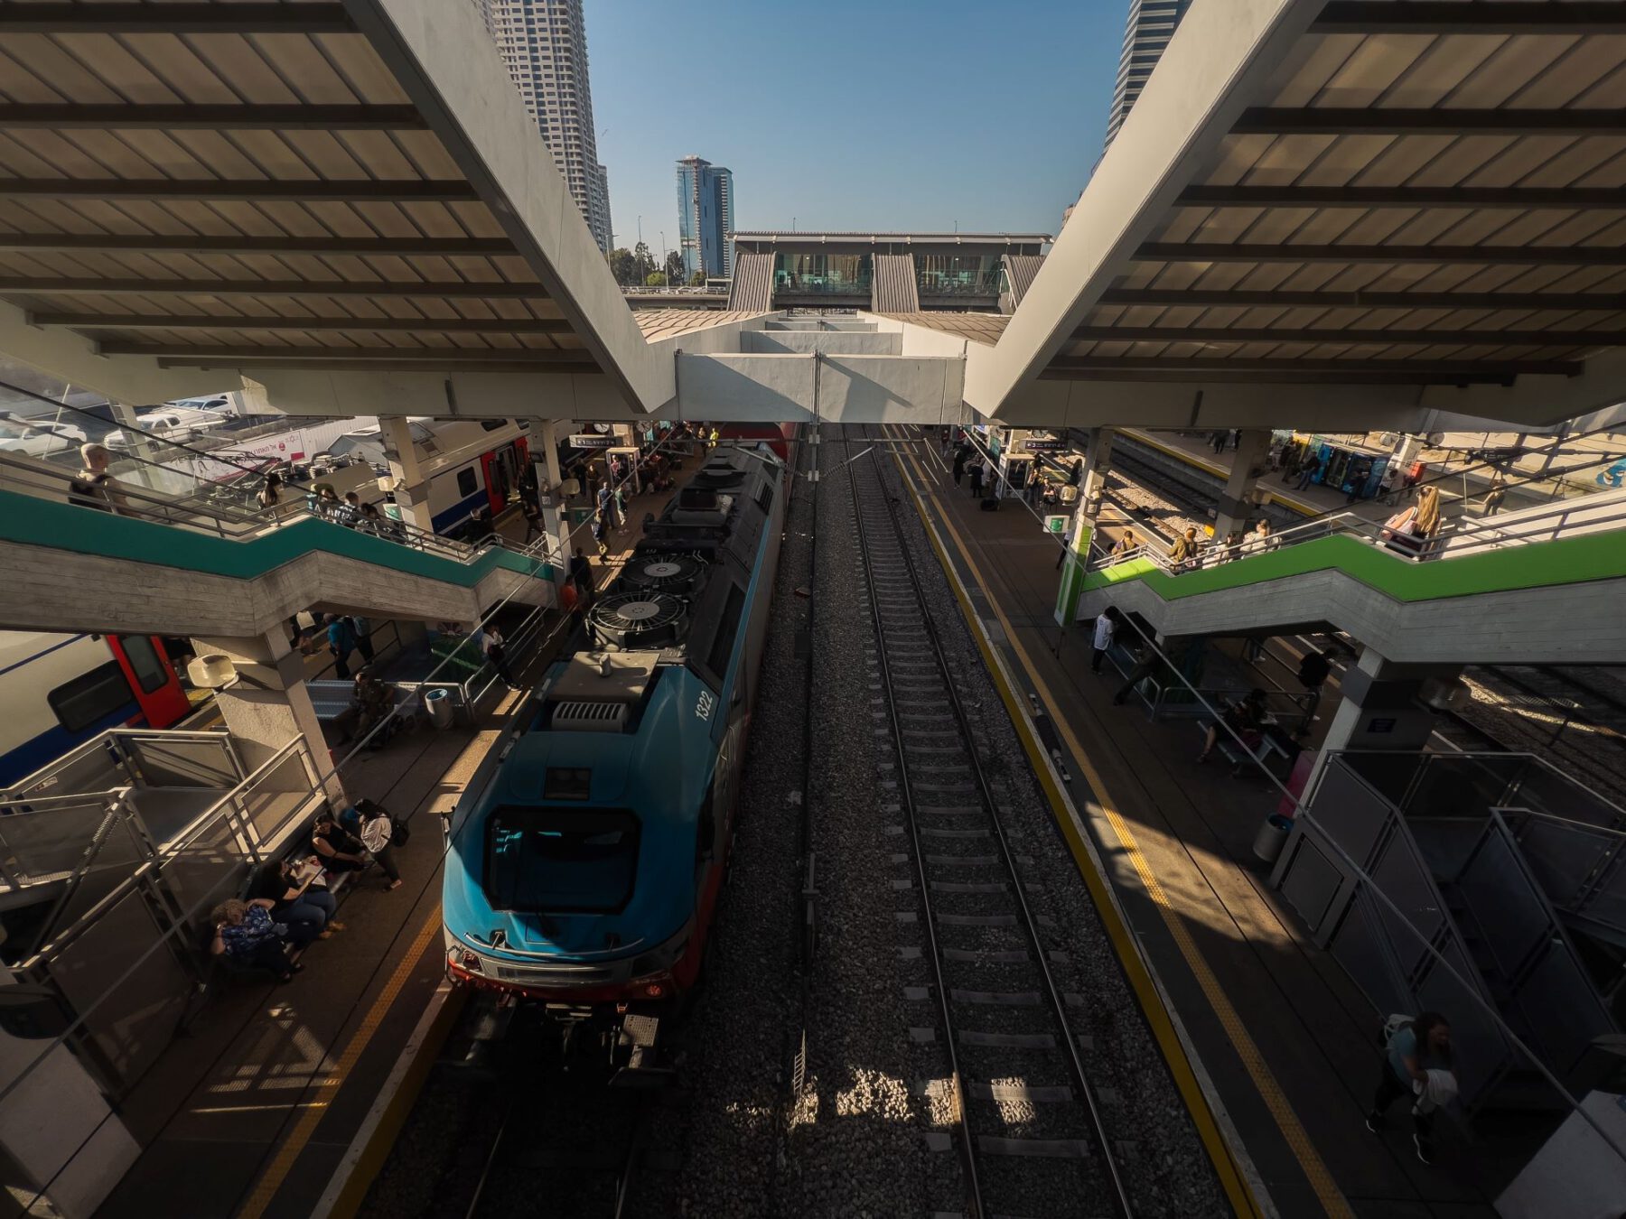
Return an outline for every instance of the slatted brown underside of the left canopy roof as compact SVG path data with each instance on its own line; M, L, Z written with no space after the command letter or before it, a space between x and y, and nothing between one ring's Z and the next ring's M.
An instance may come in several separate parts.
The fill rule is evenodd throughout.
M164 366L598 367L322 0L0 3L0 297Z

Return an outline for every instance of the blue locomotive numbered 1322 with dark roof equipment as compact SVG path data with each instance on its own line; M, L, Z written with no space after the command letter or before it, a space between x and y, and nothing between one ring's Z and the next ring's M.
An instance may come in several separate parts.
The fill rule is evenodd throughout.
M789 475L719 449L646 525L449 822L446 967L649 1068L722 884Z

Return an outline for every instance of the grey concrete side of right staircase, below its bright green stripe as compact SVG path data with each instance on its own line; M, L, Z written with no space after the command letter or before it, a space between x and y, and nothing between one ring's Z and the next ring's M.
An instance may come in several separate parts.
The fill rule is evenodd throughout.
M1397 663L1600 665L1626 655L1626 580L1592 580L1433 601L1395 601L1328 569L1164 601L1143 580L1093 588L1083 618L1106 606L1141 614L1163 636L1223 636L1330 623Z

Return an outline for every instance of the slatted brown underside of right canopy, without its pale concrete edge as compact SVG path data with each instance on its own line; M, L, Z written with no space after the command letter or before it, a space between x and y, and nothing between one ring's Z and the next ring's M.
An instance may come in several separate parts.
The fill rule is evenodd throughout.
M1626 5L1537 8L1328 3L1042 375L1507 382L1619 345Z

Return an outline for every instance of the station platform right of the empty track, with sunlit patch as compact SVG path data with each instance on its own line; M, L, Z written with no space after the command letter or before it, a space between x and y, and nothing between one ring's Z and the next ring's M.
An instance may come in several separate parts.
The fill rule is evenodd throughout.
M1054 621L1057 540L1020 502L980 512L954 488L935 436L891 436L922 440L901 445L899 460L1016 697L1057 728L1068 800L1099 844L1262 1212L1494 1216L1506 1170L1488 1141L1442 1128L1424 1165L1405 1121L1382 1136L1364 1128L1380 1016L1267 886L1252 844L1280 793L1233 779L1224 764L1198 766L1195 720L1150 722L1133 702L1114 705L1124 678L1111 666L1093 675L1086 629L1062 632ZM1262 684L1291 684L1298 655L1293 640L1273 642L1259 662ZM1249 668L1237 650L1226 660ZM1311 748L1337 707L1335 668Z

